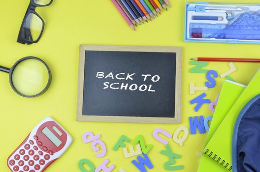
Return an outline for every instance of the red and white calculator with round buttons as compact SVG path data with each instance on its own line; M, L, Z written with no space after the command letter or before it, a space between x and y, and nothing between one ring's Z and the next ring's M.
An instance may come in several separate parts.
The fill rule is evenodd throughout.
M43 119L8 157L12 172L43 172L62 156L72 142L71 136L53 118Z

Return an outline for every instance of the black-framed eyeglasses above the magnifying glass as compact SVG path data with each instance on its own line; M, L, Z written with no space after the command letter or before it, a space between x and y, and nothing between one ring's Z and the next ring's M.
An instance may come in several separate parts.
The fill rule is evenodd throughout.
M39 41L43 29L44 21L35 12L37 6L49 6L53 0L31 0L26 11L22 26L19 31L17 42L22 44L32 44Z

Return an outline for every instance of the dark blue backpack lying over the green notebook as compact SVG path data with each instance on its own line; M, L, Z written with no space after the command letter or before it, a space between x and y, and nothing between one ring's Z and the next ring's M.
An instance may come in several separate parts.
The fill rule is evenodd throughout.
M260 95L238 115L232 139L233 172L260 172Z

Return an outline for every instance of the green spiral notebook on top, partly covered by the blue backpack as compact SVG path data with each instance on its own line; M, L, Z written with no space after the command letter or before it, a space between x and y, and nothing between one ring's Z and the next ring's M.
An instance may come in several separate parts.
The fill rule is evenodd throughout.
M232 136L236 118L247 102L260 94L259 86L260 70L258 70L248 86L236 100L203 150L204 154L211 157L212 161L218 162L220 166L229 171L232 171Z

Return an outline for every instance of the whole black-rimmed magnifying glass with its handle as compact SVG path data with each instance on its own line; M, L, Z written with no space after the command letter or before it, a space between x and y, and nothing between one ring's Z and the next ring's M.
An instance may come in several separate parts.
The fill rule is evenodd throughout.
M0 71L9 73L13 90L24 97L36 97L44 93L51 84L51 71L37 57L24 57L9 69L0 66Z

